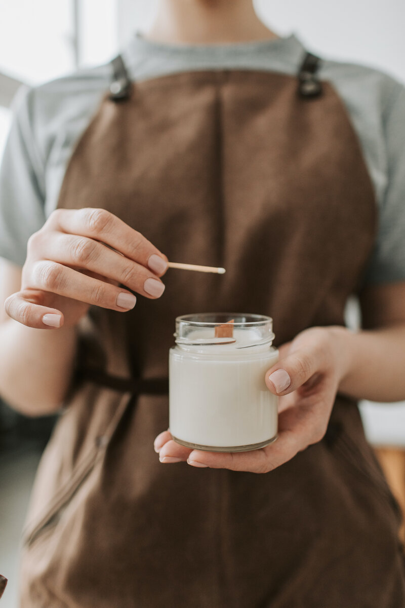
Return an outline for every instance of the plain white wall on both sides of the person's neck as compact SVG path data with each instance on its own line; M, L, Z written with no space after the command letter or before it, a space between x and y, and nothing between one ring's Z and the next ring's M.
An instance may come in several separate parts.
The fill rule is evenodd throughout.
M187 0L184 0L185 2ZM151 23L157 0L117 0L121 40ZM269 27L318 54L381 67L405 82L404 0L256 0Z

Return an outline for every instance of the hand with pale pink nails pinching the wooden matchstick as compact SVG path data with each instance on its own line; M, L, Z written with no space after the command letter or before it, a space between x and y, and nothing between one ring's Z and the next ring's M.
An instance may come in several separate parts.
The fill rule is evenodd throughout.
M5 300L29 327L73 326L90 305L125 312L162 295L167 261L143 235L104 209L57 209L30 237L21 291Z

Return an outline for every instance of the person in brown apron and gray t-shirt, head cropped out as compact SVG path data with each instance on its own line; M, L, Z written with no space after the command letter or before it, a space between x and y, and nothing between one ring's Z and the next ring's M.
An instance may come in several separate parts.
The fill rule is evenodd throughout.
M398 505L355 403L405 398L404 117L396 81L318 61L250 0L162 0L112 66L22 98L0 390L33 415L64 405L22 606L404 605ZM274 318L264 449L190 451L165 430L174 319L213 309Z

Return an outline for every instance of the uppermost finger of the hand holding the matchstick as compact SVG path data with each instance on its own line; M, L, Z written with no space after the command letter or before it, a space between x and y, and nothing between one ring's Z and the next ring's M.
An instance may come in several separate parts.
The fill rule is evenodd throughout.
M106 243L158 276L165 274L168 268L166 256L157 247L105 209L56 209L47 224L62 232Z

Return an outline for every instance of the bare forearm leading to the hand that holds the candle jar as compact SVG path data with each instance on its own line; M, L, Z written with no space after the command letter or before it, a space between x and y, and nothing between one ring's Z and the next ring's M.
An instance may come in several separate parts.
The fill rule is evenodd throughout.
M330 328L340 353L339 392L355 399L405 399L405 323L372 331Z

